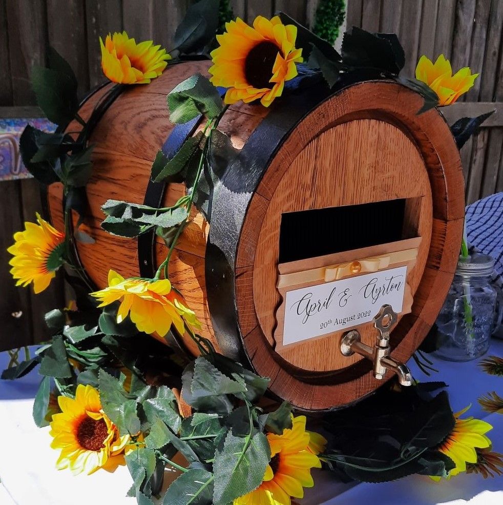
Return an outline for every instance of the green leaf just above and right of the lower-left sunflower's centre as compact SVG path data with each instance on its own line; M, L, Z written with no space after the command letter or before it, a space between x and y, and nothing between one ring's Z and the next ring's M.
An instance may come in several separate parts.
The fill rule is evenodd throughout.
M104 370L99 371L99 393L103 411L117 426L121 435L136 435L140 419L136 413L136 399L131 399L119 381Z

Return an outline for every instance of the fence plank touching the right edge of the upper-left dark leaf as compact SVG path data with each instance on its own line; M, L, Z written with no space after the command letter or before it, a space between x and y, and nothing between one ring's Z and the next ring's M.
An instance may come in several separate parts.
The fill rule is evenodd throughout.
M86 15L80 0L47 0L49 44L72 67L80 96L89 89Z

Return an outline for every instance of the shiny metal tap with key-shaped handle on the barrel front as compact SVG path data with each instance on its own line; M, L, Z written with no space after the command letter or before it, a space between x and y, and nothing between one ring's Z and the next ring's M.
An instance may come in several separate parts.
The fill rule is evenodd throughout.
M389 335L397 319L397 314L393 311L391 305L383 305L374 317L374 328L379 332L379 335L376 336L375 346L367 346L362 342L360 332L351 330L342 336L341 352L344 356L357 353L372 361L376 379L384 379L386 371L391 370L396 373L402 386L411 386L412 374L410 370L404 363L389 356Z

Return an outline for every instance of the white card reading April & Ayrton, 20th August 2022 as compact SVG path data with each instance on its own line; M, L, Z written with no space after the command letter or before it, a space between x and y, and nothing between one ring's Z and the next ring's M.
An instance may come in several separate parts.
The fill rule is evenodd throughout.
M398 267L288 291L283 345L362 325L384 304L400 314L406 276Z

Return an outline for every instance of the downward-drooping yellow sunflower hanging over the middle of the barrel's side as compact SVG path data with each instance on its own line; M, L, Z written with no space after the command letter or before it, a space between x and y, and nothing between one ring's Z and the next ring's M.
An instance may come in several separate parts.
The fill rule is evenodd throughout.
M185 324L201 327L195 313L184 305L183 298L172 289L168 279L124 279L110 270L108 284L108 288L91 295L101 301L99 307L121 300L117 322L122 322L129 314L139 331L157 332L161 337L170 330L171 325L182 335L185 333Z

